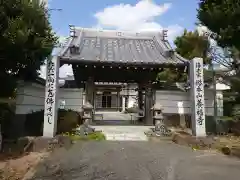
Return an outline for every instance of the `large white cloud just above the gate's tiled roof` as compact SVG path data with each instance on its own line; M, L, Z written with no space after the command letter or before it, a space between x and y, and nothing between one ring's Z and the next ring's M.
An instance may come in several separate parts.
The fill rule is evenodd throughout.
M151 1L141 0L135 5L119 4L106 7L97 12L98 28L112 28L133 31L161 31L168 29L168 38L172 41L183 28L177 24L163 27L155 19L171 8L171 3L161 5Z

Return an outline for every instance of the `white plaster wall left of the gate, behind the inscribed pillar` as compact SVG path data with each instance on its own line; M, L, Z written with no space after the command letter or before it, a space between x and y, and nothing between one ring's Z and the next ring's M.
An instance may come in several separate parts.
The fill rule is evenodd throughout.
M16 114L27 114L44 109L45 87L25 83L17 89ZM65 101L65 109L80 111L83 104L83 89L59 90L59 100Z

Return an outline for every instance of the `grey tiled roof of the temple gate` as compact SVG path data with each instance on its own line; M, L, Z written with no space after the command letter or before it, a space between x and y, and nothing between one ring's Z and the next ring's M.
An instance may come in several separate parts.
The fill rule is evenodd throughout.
M73 48L71 48L73 47ZM185 64L159 32L75 29L61 58L129 64Z

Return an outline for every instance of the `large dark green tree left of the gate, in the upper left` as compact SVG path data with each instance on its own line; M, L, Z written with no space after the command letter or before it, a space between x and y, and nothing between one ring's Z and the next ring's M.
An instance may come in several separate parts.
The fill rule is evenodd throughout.
M0 96L6 96L15 89L16 78L31 80L38 76L57 37L47 9L38 0L2 0L0 22L0 80L9 79Z

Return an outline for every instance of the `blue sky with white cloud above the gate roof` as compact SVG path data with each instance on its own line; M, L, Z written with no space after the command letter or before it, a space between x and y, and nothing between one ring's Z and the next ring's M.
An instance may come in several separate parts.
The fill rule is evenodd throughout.
M116 21L128 21L129 16L134 16L134 14L129 14L131 13L130 11L132 11L132 13L135 12L136 16L139 13L143 17L140 20L135 19L135 21L137 21L137 27L130 27L130 29L127 30L141 30L142 25L139 24L147 21L153 26L152 29L158 29L157 25L160 25L164 29L169 29L170 33L174 31L172 35L170 35L171 39L179 35L183 28L187 28L188 30L196 28L197 0L153 0L152 3L146 2L147 0L49 0L48 6L49 8L62 9L60 12L51 11L52 26L60 36L68 35L69 24L80 27L124 29L126 26L129 26L127 22L124 27L122 27L121 24L118 25L117 23L113 23L113 21L115 21L114 18L116 18ZM142 5L140 5L140 3L142 3ZM149 4L154 5L151 6ZM161 11L160 8L163 8L164 5L168 6L165 10ZM108 12L106 8L108 8ZM119 12L114 11L116 8ZM154 8L156 12L151 14ZM146 18L141 14L141 11L147 16ZM101 15L96 16L99 12L102 12ZM109 13L109 16L112 18L110 19L110 23L107 22L107 13ZM148 14L150 15L148 16ZM134 17L132 18L134 19ZM129 24L132 24L132 21L129 22ZM144 29L151 25L145 24Z

